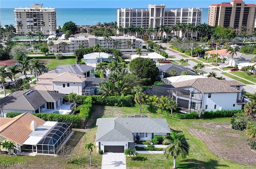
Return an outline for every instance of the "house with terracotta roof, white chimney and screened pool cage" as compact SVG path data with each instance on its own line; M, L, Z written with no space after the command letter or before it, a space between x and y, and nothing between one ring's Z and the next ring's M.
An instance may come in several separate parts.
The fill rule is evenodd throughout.
M71 134L71 123L46 122L28 112L14 118L0 118L0 141L15 143L15 151L58 154Z

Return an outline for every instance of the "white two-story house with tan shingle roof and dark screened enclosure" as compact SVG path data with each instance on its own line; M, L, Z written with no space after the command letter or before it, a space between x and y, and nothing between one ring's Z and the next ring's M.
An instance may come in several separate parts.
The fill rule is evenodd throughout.
M245 104L241 98L244 84L238 81L199 76L198 78L190 76L190 80L186 80L184 76L178 77L173 77L173 80L172 77L169 77L169 80L162 81L166 85L152 85L152 90L148 94L169 96L176 100L176 103L184 112L195 112L200 108L207 111L240 110L242 105ZM177 81L177 79L179 80ZM172 83L172 81L174 82Z

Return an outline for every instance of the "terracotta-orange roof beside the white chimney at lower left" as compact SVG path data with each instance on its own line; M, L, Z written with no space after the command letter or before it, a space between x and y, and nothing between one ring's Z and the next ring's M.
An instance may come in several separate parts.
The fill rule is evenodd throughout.
M36 122L36 127L43 125L46 121L26 112L13 118L12 121L0 126L0 136L22 145L32 132L31 121Z

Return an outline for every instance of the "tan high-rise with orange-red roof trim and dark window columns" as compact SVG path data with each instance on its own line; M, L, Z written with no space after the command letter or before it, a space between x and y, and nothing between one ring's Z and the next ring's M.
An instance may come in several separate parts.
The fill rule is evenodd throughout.
M242 0L222 2L209 6L208 25L232 27L237 35L242 33L242 26L246 26L250 35L255 24L255 4L245 4Z

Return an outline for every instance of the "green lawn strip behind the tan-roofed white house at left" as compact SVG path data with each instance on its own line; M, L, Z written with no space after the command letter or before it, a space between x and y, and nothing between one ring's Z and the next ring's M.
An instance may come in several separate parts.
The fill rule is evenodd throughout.
M59 65L72 65L76 63L76 59L40 59L45 63L46 67L50 70L54 70Z

